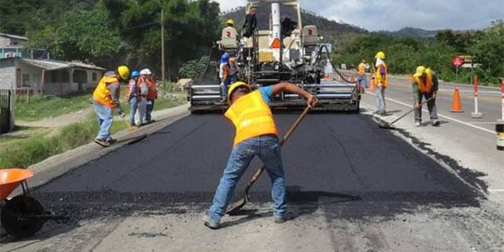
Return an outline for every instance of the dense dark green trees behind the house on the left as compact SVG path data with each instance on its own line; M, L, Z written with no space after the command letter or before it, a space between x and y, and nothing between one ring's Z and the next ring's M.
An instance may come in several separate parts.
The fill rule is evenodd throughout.
M164 9L167 77L208 53L218 38L218 3L209 0L0 0L0 32L25 35L52 57L160 72Z

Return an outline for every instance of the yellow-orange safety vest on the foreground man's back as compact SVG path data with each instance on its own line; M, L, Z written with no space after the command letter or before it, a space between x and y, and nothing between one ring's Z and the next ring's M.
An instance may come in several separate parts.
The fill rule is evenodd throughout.
M278 135L273 113L259 90L239 97L224 114L236 128L235 146L241 141L265 134Z

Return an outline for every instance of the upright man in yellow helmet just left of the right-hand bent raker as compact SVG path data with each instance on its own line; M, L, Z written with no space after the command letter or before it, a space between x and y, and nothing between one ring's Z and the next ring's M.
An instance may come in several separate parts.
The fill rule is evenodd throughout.
M377 111L374 113L379 114L380 116L386 115L386 104L385 104L385 90L387 87L387 78L388 78L388 68L385 63L385 53L378 52L376 56L376 97L377 97Z

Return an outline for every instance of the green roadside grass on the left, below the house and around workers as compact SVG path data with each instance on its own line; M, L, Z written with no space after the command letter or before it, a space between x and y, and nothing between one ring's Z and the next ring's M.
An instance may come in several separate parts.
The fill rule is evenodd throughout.
M121 94L125 94L125 86L121 87ZM160 97L155 102L155 111L169 109L186 102L184 92L174 92L172 83L160 87ZM123 109L127 115L130 113L130 105L124 101ZM73 113L78 110L92 108L90 94L80 94L73 97L18 97L16 118L36 122L43 118L51 118ZM127 118L125 119L127 120ZM127 124L123 120L114 120L112 133L125 130ZM45 127L19 127L18 134L3 135L0 137L0 169L21 167L36 164L52 155L64 153L78 146L90 143L98 132L96 116L93 112L83 122L71 123L61 128Z

